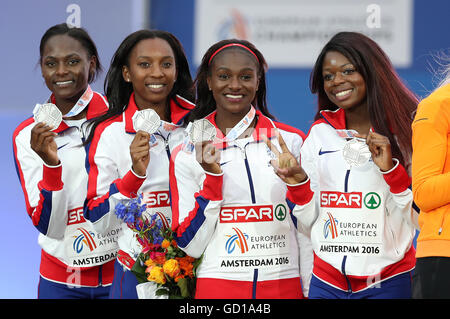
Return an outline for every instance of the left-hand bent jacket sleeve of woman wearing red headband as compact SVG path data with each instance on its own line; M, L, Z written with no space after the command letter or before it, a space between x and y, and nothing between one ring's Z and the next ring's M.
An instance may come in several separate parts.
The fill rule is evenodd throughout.
M223 174L205 173L195 155L178 151L170 162L173 229L180 248L198 258L215 231L222 203Z

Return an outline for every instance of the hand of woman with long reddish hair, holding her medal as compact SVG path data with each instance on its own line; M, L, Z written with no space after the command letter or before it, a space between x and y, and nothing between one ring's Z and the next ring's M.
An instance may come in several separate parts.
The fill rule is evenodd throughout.
M372 160L381 171L387 172L394 167L389 139L381 134L370 131L367 136L355 134L356 137L364 138L372 153Z

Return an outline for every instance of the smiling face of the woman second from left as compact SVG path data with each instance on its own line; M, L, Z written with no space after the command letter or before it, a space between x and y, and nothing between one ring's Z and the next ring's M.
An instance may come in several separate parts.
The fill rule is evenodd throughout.
M163 39L141 40L131 50L123 78L131 82L139 109L165 107L177 79L175 56Z

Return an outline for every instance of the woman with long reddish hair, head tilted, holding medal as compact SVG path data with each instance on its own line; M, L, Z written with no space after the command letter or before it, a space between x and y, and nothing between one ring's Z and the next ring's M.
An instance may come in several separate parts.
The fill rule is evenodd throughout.
M409 167L417 99L379 46L354 32L338 33L325 45L311 91L319 110L301 167L282 171L297 173L290 182L297 185L289 186L292 213L313 244L309 297L410 298L417 213Z

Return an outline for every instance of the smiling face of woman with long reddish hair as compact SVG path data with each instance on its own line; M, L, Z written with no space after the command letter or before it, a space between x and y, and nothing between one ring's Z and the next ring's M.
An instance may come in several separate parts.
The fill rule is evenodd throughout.
M322 65L323 87L328 99L342 109L366 105L366 82L341 53L329 51Z

